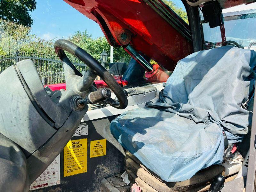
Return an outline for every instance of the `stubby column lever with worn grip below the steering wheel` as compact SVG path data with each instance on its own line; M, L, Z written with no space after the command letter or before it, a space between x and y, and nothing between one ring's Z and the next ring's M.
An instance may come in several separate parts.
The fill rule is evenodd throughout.
M90 92L87 97L78 101L79 105L87 104L96 104L104 101L111 96L111 91L109 88L101 88L97 91Z

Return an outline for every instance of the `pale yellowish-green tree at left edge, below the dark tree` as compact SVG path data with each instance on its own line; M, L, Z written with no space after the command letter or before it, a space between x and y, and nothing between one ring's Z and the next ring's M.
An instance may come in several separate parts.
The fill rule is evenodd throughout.
M0 50L11 54L20 49L31 37L30 28L14 21L0 19Z

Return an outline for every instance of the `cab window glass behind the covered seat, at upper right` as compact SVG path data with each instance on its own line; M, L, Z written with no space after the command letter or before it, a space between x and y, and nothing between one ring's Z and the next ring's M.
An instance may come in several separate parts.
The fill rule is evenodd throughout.
M200 10L199 10L200 11ZM237 43L241 48L255 49L256 43L256 3L242 4L222 10L224 27L228 44ZM200 11L201 20L204 20L203 13ZM220 28L210 28L208 23L203 23L205 48L221 46ZM234 41L234 42L232 42Z

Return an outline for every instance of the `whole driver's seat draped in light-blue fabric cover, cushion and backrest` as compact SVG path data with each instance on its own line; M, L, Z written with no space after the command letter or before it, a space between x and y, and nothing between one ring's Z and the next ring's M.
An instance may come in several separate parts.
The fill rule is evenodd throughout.
M246 106L253 98L255 65L256 52L232 46L193 53L177 63L156 103L121 114L111 122L111 133L137 165L164 183L214 173L208 179L197 177L188 188L202 185L223 171L214 166L223 162L223 133L232 144L251 126L252 111ZM138 173L135 165L126 166L128 174Z

